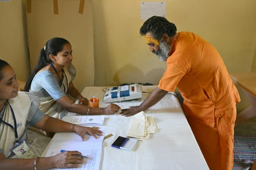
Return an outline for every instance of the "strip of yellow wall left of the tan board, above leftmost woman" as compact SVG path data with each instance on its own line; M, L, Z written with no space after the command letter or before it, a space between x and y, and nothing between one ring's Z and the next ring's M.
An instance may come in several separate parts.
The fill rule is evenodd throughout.
M29 76L25 6L25 0L0 2L0 58L14 68L22 81Z

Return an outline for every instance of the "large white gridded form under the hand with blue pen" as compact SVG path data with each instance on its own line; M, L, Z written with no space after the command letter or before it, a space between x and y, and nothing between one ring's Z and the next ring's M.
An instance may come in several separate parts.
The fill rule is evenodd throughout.
M101 128L100 130L103 131L104 134L106 128ZM80 168L64 168L64 170L98 170L100 167L100 157L104 135L97 135L98 139L95 139L89 134L86 134L85 137L86 140L82 141L82 138L76 133L58 133L52 139L52 144L45 156L54 156L60 153L60 150L77 150L89 158L84 158L85 163L80 164ZM63 170L63 168L52 169Z

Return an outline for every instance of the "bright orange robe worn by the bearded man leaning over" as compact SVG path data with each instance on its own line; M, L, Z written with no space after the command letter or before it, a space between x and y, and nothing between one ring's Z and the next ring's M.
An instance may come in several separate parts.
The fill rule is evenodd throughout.
M209 168L231 170L240 97L214 46L196 34L177 33L158 87L179 89L188 123Z

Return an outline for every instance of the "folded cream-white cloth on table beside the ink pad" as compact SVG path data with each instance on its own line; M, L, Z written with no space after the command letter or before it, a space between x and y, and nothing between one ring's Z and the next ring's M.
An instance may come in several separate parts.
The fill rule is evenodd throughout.
M146 140L149 138L150 133L155 133L155 122L151 116L146 117L142 111L134 115L131 120L127 131L127 137L133 137L137 140Z

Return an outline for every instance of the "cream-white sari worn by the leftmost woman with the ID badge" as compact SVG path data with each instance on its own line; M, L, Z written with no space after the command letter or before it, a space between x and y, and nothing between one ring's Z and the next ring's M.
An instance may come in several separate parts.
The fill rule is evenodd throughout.
M14 118L11 111L12 108L17 124L18 141L27 141L30 143L30 147L35 152L35 155L40 156L49 143L50 138L40 133L40 130L36 132L33 129L27 129L27 123L29 123L34 117L40 104L40 100L30 93L18 92L18 96L9 99L8 102L11 107L6 102L6 105L0 112L2 120L14 127ZM27 130L29 131L29 140L27 140ZM12 151L10 150L14 146L15 142L14 129L1 122L0 136L0 148L3 150L5 156L7 158L17 157L16 155L13 155Z

